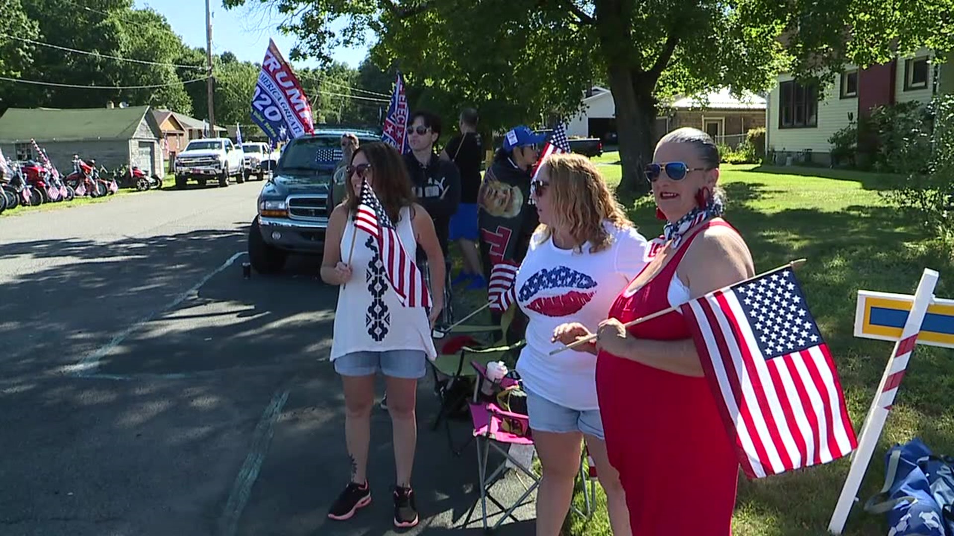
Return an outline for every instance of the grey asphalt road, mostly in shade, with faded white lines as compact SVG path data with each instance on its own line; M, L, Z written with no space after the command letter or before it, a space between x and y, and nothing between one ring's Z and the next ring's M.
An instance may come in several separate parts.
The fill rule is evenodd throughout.
M327 362L337 292L317 278L317 258L242 278L259 189L0 217L0 534L394 532L380 410L372 505L348 522L325 517L349 471ZM452 456L428 427L435 412L424 381L422 523L404 533L483 533L479 521L462 526L475 504L479 520L475 449ZM468 428L453 432L463 440ZM521 490L504 484L504 496Z

